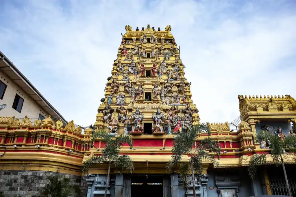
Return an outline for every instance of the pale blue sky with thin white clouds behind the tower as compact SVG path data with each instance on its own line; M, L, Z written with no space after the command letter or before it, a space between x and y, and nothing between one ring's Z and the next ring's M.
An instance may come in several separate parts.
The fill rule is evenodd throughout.
M125 25L171 25L201 122L237 118L239 94L296 97L294 0L2 0L0 7L0 51L76 124L96 120Z

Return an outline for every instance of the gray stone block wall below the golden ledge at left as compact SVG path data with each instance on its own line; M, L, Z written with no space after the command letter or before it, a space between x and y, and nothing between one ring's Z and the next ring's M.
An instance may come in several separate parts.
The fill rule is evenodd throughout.
M15 171L2 170L0 171L0 192L7 197L38 197L39 187L44 187L48 180L46 178L52 174L59 174L70 178L73 185L79 185L82 191L82 196L87 194L86 176L69 175L57 172L47 171Z

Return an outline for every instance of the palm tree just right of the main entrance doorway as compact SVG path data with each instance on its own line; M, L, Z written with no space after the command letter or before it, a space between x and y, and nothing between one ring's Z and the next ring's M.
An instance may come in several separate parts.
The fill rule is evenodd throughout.
M167 166L167 172L170 172L179 163L180 164L180 177L183 180L183 187L187 191L189 188L190 181L188 180L188 175L191 174L192 185L193 185L193 195L196 197L195 192L195 177L197 180L202 178L202 160L206 159L212 162L214 165L218 165L215 157L220 157L221 148L218 141L212 140L210 137L197 141L195 143L196 136L200 133L209 133L210 129L204 123L194 126L192 130L187 130L185 132L178 132L173 139L173 149L171 160ZM193 146L195 147L193 148ZM209 153L212 152L213 154ZM181 162L182 156L189 154L190 159L186 162Z

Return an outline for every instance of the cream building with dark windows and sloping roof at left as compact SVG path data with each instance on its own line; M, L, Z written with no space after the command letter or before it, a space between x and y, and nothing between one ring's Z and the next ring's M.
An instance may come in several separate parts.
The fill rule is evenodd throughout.
M52 118L67 121L38 92L29 80L0 51L0 105L7 107L0 111L0 116L15 118Z

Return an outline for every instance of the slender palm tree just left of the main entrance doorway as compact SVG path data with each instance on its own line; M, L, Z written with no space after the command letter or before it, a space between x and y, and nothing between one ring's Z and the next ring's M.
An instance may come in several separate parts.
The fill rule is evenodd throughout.
M107 133L104 130L95 132L92 135L93 140L97 138L103 139L104 141L107 142L107 144L105 144L101 156L92 155L85 162L83 162L82 171L88 172L89 168L91 168L93 165L97 165L100 163L107 163L109 165L105 194L104 194L104 197L106 197L107 189L109 185L109 175L110 175L111 164L113 164L114 166L120 166L123 169L126 169L130 173L132 173L134 170L131 157L129 157L128 155L119 155L119 149L123 146L123 144L128 144L130 147L133 147L133 140L128 135L120 135L120 136L116 136L115 139L112 139L112 136L110 136L109 133Z

